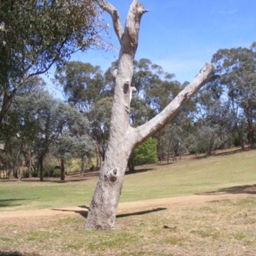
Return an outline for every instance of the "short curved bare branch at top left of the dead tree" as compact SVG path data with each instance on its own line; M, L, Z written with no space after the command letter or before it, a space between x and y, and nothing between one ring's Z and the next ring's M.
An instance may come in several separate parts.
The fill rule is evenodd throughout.
M112 4L109 4L106 1L102 1L102 3L99 3L99 5L105 12L108 12L111 15L115 33L121 44L121 38L122 38L122 35L124 34L124 29L123 29L118 11Z

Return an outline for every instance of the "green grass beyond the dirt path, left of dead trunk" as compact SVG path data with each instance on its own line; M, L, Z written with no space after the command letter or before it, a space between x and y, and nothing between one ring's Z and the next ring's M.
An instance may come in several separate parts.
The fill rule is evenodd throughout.
M78 182L1 182L0 211L88 204L96 180Z

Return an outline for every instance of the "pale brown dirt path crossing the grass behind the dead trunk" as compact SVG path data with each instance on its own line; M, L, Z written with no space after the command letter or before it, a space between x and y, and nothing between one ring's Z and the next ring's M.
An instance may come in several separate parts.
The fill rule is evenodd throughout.
M140 215L147 212L158 211L157 209L168 209L175 205L198 205L215 200L234 200L248 197L248 194L256 197L256 186L235 187L234 190L210 192L201 195L186 195L170 198L158 198L138 202L124 202L118 205L118 216ZM81 215L86 217L89 205L77 207L64 207L58 209L36 209L26 211L2 211L0 221L8 225L37 226L47 218L61 219L67 216ZM40 220L40 221L39 221Z

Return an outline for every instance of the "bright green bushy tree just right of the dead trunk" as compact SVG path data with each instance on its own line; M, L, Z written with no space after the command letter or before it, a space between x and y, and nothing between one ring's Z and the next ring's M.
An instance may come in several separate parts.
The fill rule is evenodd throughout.
M135 148L129 157L128 166L130 171L141 164L150 164L157 162L157 140L148 138L140 146Z

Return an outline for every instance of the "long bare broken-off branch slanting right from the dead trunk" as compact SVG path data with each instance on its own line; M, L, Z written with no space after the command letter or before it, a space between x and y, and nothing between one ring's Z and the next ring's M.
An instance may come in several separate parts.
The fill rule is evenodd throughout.
M212 63L205 63L205 67L202 68L200 74L196 76L192 83L190 83L184 90L182 90L175 99L172 100L166 108L161 111L158 115L148 121L146 124L137 127L133 131L136 134L134 147L139 145L141 141L146 140L154 133L162 129L170 120L172 120L173 116L188 102L195 93L200 90L200 88L204 85L204 83L209 79L211 73L214 69L214 65Z

